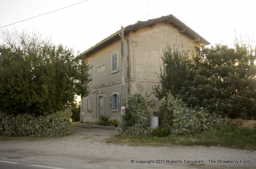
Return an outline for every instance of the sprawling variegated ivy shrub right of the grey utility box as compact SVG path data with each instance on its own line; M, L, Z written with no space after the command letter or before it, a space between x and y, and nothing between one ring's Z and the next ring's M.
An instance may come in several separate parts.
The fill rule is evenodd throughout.
M162 99L160 108L164 112L166 126L173 136L210 130L228 122L227 117L206 113L204 109L189 109L181 99L174 99L172 94Z

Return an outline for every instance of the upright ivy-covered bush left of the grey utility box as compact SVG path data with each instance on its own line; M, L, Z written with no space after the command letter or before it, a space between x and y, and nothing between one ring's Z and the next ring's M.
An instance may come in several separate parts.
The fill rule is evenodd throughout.
M125 115L115 131L116 136L149 134L150 117L146 98L141 94L126 97Z

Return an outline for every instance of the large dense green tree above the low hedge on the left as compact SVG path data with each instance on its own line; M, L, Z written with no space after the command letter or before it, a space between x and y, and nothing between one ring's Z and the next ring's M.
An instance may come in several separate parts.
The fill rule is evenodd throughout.
M47 115L87 95L88 65L73 49L26 32L2 32L0 45L0 112Z

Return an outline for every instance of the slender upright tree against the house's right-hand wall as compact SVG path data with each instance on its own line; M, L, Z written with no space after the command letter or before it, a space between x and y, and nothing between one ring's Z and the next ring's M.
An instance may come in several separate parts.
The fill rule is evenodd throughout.
M183 82L188 80L188 70L191 65L188 51L181 50L175 46L165 46L163 59L163 69L160 66L160 84L153 88L155 96L161 100L168 93L173 96L179 94Z

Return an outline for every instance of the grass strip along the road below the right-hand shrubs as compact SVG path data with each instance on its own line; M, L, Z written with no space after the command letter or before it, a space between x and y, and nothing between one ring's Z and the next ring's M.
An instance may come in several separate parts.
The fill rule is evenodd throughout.
M202 145L222 146L256 150L256 129L242 129L236 126L222 126L220 129L205 131L192 135L180 137L152 137L152 136L131 136L131 137L110 137L107 143L115 143L130 146L173 146L173 145Z

